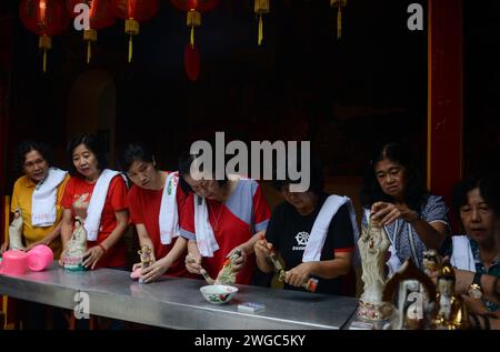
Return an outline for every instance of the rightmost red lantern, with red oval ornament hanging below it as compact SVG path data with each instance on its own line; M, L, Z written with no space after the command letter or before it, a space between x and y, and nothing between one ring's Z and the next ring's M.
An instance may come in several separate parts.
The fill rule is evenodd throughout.
M188 78L196 81L200 73L200 52L194 46L194 28L201 26L201 12L216 8L220 0L171 0L172 4L187 13L187 26L191 29L184 49L184 69Z

